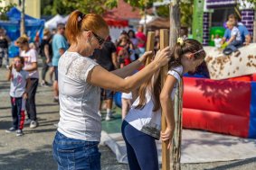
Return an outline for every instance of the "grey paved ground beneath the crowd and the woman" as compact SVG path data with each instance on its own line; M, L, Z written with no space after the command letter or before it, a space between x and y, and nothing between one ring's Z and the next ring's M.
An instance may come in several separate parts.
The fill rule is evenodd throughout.
M0 68L0 170L53 170L57 169L52 159L52 139L56 131L53 125L59 120L59 105L52 103L52 88L38 87L36 94L38 120L40 126L31 130L24 128L23 137L6 134L11 126L11 110L9 102L9 82L5 81L6 70ZM120 115L116 110L114 121L102 121L107 131L119 129ZM102 170L127 170L128 166L119 164L114 154L105 146L100 146ZM182 165L184 170L218 170L218 169L256 169L256 157L233 161L207 164Z

